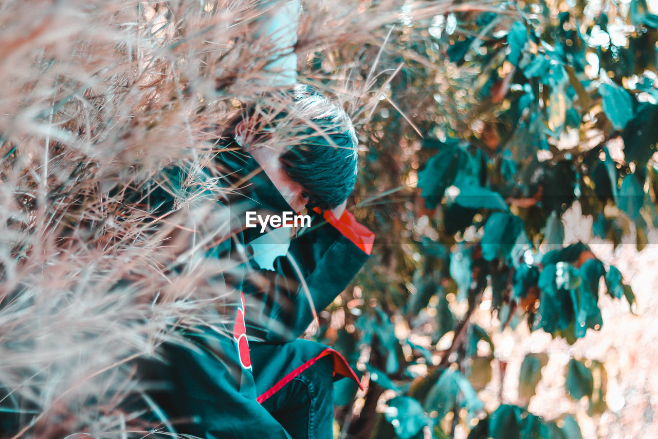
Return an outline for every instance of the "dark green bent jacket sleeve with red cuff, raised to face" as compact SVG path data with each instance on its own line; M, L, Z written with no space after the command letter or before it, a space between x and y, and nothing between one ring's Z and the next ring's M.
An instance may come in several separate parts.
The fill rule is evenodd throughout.
M249 335L272 343L299 337L313 322L313 309L326 308L359 272L373 242L374 234L349 212L340 219L330 212L316 216L311 229L290 242L288 254L276 258L273 271L253 274L249 302L259 322Z

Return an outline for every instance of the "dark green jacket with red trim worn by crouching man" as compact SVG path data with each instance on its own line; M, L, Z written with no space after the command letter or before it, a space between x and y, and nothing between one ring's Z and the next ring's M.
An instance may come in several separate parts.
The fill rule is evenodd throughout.
M217 160L230 170L219 184L227 189L240 184L239 191L230 191L232 196L222 201L236 223L243 223L247 209L261 214L291 210L265 173L258 173L259 166L251 156L227 148ZM179 170L170 175L174 187L184 177ZM147 373L171 384L156 398L164 412L193 419L179 426L179 433L206 438L288 438L261 402L327 355L333 358L336 378L357 380L339 353L297 337L313 321L305 289L315 312L327 307L363 266L374 235L348 212L340 219L330 212L311 215L311 227L290 240L287 251L282 251L285 254L273 260L272 270L259 266L259 258L245 256L250 250L258 251L258 240L264 238L260 228L238 226L232 239L208 252L209 257L232 254L244 258L242 278L232 279L236 287L234 324L224 328L232 337L199 328L186 334L193 347L166 346L167 365ZM252 248L251 243L257 245ZM253 367L249 349L259 349L261 343L268 343L268 363Z

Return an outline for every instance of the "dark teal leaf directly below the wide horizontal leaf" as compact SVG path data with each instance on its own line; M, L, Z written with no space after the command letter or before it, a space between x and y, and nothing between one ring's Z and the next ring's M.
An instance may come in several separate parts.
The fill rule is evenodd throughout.
M493 212L484 225L482 257L485 260L506 259L523 230L523 221L512 214Z

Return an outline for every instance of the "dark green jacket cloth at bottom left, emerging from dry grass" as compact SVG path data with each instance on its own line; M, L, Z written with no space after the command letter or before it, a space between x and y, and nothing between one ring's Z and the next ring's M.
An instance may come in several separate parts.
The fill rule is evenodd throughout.
M236 374L230 339L211 330L194 337L193 345L164 345L166 362L144 362L142 380L176 429L204 439L290 439L284 427L257 401L253 378ZM240 380L242 376L242 380ZM168 386L157 386L165 382ZM245 390L245 387L247 389ZM186 420L186 421L184 421ZM184 423L184 424L182 424ZM178 437L178 436L176 436Z

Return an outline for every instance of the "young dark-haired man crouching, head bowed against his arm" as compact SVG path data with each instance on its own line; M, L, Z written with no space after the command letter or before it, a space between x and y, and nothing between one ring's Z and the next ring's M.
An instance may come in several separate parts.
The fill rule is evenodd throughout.
M296 22L284 19L296 17L295 5L286 3L261 23L265 36L286 42L268 66L277 86L293 78L286 65L293 65L296 37L282 29ZM345 111L315 89L297 85L277 96L276 115L272 109L250 112L218 142L216 161L226 171L221 184L234 189L223 205L240 226L208 254L243 262L242 276L226 278L239 295L237 307L226 307L234 324L187 334L197 348L167 345L165 365L145 372L167 384L152 396L178 433L329 439L332 382L357 380L339 353L297 338L372 249L374 235L345 211L357 175L357 139ZM171 193L180 192L178 183ZM248 227L243 203L262 216L307 208L311 224L295 236L284 226L263 233L260 225ZM245 260L243 253L251 256Z

